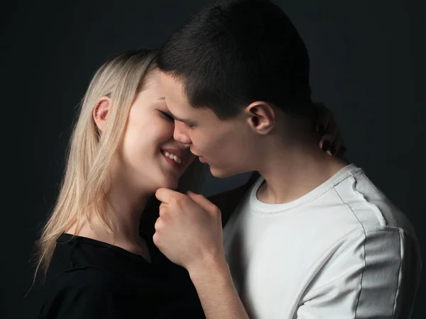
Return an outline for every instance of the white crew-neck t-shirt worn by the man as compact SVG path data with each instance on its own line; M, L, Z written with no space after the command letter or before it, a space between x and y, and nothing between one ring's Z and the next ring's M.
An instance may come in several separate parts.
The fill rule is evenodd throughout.
M253 318L410 318L415 233L354 164L290 203L247 192L224 228L226 260Z

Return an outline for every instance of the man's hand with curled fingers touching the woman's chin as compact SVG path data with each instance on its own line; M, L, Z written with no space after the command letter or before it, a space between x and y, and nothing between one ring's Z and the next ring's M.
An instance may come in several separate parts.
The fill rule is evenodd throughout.
M160 217L153 242L170 261L196 271L212 262L224 262L221 212L207 198L188 192L158 189Z

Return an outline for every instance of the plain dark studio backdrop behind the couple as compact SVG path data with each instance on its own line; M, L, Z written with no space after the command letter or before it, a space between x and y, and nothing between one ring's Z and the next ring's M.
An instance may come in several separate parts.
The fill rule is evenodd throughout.
M209 1L2 1L4 206L0 318L27 318L29 259L58 195L63 155L94 71L111 55L158 47ZM352 162L410 218L426 259L425 4L422 0L276 1L304 38L315 101L334 112ZM209 177L210 195L246 175ZM413 318L426 318L422 280Z

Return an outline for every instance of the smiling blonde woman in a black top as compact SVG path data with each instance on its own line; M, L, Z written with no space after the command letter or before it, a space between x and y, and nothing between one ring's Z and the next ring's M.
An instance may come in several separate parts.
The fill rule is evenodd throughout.
M38 242L38 318L204 318L186 270L152 240L155 191L197 191L202 177L189 145L173 139L155 57L153 50L126 52L89 84ZM329 113L320 111L326 127Z

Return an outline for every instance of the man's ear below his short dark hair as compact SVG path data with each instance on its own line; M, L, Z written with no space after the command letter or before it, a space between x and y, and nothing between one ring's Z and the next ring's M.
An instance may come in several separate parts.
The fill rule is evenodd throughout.
M271 104L256 101L245 109L247 121L251 128L261 135L266 135L275 125L275 111Z

